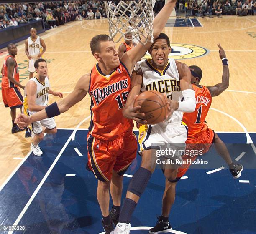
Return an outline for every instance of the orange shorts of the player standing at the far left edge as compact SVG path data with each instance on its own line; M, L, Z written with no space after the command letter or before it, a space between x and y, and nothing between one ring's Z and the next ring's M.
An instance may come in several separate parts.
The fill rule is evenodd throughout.
M16 109L22 107L23 96L20 93L18 87L13 88L3 88L2 87L2 98L5 107L10 107L11 109Z

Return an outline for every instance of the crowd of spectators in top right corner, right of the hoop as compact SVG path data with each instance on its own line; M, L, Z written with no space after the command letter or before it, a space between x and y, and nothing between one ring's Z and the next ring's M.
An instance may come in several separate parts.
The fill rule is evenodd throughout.
M176 9L186 17L256 15L256 0L178 0Z

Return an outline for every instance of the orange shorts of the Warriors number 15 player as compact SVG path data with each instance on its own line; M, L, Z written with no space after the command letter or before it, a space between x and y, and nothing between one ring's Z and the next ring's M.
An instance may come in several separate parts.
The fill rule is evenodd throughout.
M112 171L120 176L125 174L137 153L137 139L133 132L113 141L102 141L92 135L87 136L88 163L95 177L100 181L110 181Z

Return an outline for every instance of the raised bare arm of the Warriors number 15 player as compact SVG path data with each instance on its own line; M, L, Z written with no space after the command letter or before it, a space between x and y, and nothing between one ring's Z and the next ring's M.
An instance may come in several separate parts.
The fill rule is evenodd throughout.
M177 0L169 0L161 9L161 11L158 13L156 18L154 18L154 24L153 24L154 38L157 38L160 35L161 31L166 25L166 22L169 19L170 14L172 13L172 9L174 8L176 1ZM141 40L142 42L145 42L145 40L144 41L143 39ZM121 62L124 63L126 68L129 70L130 74L132 73L135 63L141 60L141 58L145 55L145 53L151 47L151 45L152 43L150 41L148 41L146 45L142 45L141 43L138 43L136 47L127 51L127 53L124 53L122 58L120 58Z

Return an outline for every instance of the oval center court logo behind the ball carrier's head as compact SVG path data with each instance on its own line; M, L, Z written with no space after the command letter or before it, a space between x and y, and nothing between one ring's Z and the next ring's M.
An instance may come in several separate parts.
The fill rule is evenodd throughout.
M188 45L188 44L171 44L171 53L169 58L173 59L187 59L187 58L197 58L206 55L209 51L198 45ZM151 55L147 52L144 58L151 58Z

